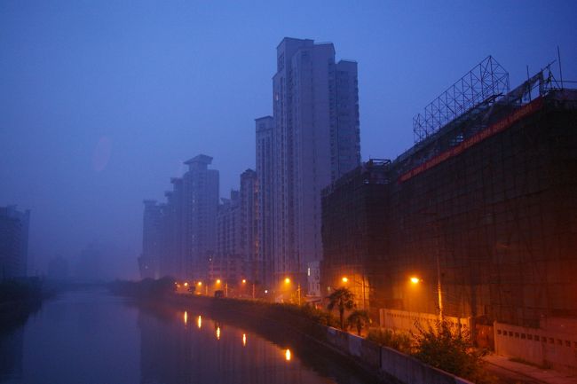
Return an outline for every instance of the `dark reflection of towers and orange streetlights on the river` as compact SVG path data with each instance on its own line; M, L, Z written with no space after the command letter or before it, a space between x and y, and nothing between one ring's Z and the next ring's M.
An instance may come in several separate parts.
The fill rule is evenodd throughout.
M174 312L182 318L182 311ZM157 315L138 316L143 383L334 382L304 366L290 349L247 330L200 316L198 323L206 326L190 328Z

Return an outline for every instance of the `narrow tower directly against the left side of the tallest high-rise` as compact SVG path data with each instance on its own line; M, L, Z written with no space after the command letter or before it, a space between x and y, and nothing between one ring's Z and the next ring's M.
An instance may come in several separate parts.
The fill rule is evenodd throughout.
M255 120L257 133L257 259L263 269L262 283L270 287L274 276L273 116Z

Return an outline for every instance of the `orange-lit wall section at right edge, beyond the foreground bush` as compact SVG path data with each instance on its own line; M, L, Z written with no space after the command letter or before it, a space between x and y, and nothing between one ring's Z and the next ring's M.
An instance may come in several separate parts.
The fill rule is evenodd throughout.
M577 373L577 333L571 329L527 328L495 322L494 347L499 355Z

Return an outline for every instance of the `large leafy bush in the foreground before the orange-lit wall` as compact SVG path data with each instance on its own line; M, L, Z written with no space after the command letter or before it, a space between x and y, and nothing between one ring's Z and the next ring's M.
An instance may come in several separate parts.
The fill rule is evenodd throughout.
M483 357L486 350L474 349L470 333L451 329L447 322L437 322L434 329L424 329L415 322L418 334L415 335L415 353L413 356L443 371L471 380L476 383L491 383L493 378L483 370Z

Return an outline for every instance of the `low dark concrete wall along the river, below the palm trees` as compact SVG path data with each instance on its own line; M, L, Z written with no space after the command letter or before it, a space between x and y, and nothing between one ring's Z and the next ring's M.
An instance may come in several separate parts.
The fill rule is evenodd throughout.
M351 333L327 328L330 345L354 357L361 365L378 369L385 378L407 384L472 384L450 373L423 364L395 349L380 347Z

